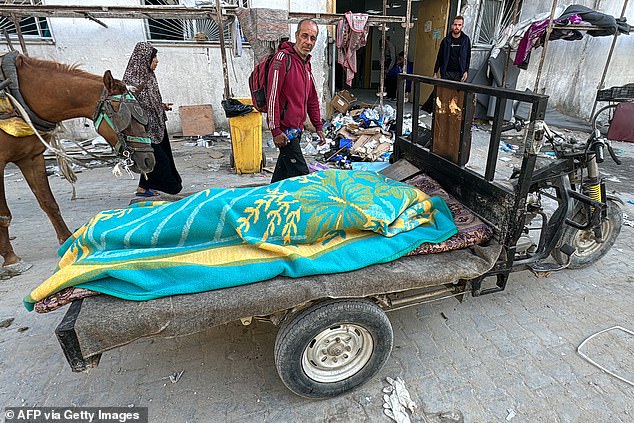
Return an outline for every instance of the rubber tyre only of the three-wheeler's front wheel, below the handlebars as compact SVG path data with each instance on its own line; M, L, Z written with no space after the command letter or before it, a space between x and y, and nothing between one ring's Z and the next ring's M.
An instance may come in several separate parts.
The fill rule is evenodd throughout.
M618 200L612 198L608 198L606 204L608 211L607 219L610 223L610 234L608 235L608 238L603 241L601 247L593 253L581 256L574 253L570 257L570 265L568 266L569 269L581 269L594 264L601 257L606 255L608 251L610 251L610 248L612 248L612 246L616 242L616 238L619 236L619 233L621 233L621 227L623 225L623 208L621 207L621 203ZM573 217L573 220L578 223L587 222L584 210L582 208L579 208L577 210L575 216ZM569 225L564 226L563 233L561 234L561 239L557 244L557 247L555 247L555 249L553 249L551 253L557 263L565 264L568 261L568 257L564 253L559 251L559 247L564 243L576 247L575 237L579 232L586 231L580 231L579 229L573 228Z

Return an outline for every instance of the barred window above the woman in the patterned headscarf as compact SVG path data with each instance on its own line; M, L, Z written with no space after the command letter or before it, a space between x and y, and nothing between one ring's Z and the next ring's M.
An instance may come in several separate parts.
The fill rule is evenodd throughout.
M190 1L181 0L144 0L143 4L152 6L190 6ZM224 0L223 3L248 7L247 0ZM215 5L215 2L210 2ZM147 33L150 40L218 42L220 34L214 19L148 19ZM223 33L226 42L231 42L231 28L225 24Z

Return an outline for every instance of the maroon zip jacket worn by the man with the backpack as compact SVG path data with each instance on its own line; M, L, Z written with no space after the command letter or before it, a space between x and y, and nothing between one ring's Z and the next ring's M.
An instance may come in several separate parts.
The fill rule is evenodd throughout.
M282 43L269 68L269 80L266 92L268 113L266 121L271 134L276 137L287 129L304 130L306 115L317 131L321 131L321 113L319 99L315 89L310 58L302 60L289 41ZM288 71L287 57L290 58Z

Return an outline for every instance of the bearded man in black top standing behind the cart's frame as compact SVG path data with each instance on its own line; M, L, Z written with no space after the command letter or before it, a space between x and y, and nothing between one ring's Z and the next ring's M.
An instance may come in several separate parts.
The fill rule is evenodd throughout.
M434 66L434 77L465 82L469 76L471 62L471 40L462 32L464 18L456 16L451 25L451 33L440 42L440 49Z

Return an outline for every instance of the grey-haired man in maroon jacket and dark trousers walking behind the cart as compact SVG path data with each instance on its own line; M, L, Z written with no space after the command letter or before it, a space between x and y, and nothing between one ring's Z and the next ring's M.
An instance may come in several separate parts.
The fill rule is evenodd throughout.
M315 47L318 34L319 28L314 21L300 21L295 32L295 43L282 43L271 62L266 90L269 93L267 123L273 142L280 149L271 183L308 175L308 165L299 145L306 115L321 138L321 143L326 142L310 66L310 52ZM290 139L287 134L291 135Z

